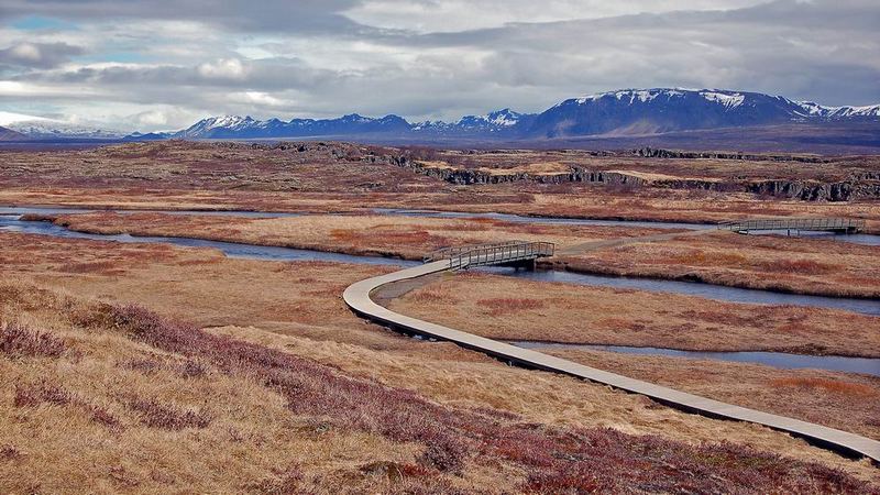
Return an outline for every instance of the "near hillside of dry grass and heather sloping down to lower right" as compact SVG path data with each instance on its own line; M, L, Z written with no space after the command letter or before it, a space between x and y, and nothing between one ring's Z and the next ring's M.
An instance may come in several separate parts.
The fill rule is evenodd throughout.
M0 300L4 311L61 328L82 359L0 362L0 375L16 384L11 407L0 403L0 415L23 414L14 426L0 422L12 442L3 457L14 463L0 464L0 486L12 492L78 491L86 480L92 490L150 492L182 485L263 493L873 490L817 463L734 443L689 446L439 405L141 307L58 297L32 311L21 302ZM201 376L194 388L174 375L139 376L113 365L154 352L204 360L221 373ZM52 377L20 385L35 372ZM100 387L96 380L117 386ZM272 428L272 420L279 425ZM34 436L36 428L42 431ZM289 428L297 435L282 433ZM144 464L146 455L154 461Z

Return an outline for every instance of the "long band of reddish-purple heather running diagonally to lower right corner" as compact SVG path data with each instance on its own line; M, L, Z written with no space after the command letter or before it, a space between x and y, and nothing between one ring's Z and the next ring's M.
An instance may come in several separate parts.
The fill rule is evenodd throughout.
M393 485L395 493L458 493L441 473L463 471L469 463L497 466L498 462L527 473L521 486L526 493L875 490L840 471L730 443L688 446L607 428L529 425L516 416L441 406L410 391L355 380L308 359L212 336L136 306L113 308L112 318L118 328L151 345L209 362L226 373L255 376L283 395L294 414L322 418L321 425L331 428L426 446L417 464L399 468L403 480ZM148 400L134 407L165 428L197 421L198 416Z

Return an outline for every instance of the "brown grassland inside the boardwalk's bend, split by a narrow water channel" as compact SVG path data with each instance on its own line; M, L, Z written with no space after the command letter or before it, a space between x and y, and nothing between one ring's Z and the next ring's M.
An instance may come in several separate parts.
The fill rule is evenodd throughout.
M498 340L880 356L877 317L497 275L437 277L388 307ZM601 351L549 352L625 376L880 438L878 377Z

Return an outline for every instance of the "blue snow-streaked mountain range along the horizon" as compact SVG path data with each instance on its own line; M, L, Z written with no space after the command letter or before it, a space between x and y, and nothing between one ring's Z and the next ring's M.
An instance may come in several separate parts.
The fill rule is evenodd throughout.
M38 119L6 128L26 139L77 138L150 141L164 139L234 140L283 138L380 138L389 140L517 141L578 136L646 136L712 129L790 123L880 123L880 105L826 107L781 96L718 89L624 89L564 100L541 113L509 108L455 122L410 123L398 116L351 113L337 119L256 120L223 116L202 119L176 132L132 133L85 129ZM10 134L12 139L15 134ZM2 140L0 135L0 140ZM8 139L9 140L9 139Z

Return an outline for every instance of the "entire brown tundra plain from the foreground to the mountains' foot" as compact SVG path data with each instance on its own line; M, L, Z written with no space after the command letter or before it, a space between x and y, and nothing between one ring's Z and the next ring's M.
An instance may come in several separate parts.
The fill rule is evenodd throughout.
M562 253L547 268L877 298L878 246L374 209L675 222L854 217L877 232L878 163L163 142L2 152L0 204L289 211L306 215L29 218L81 232L405 260L447 245L540 240ZM614 178L570 180L575 169ZM620 170L636 179L620 183L614 175ZM795 189L807 198L792 197ZM846 200L822 197L840 190ZM393 265L237 260L211 249L3 231L0 238L0 486L10 492L79 492L88 484L131 493L873 493L880 486L870 462L781 432L510 367L354 316L342 290ZM503 340L880 354L880 318L832 309L479 273L435 277L383 301ZM869 375L550 352L880 438L880 378Z

